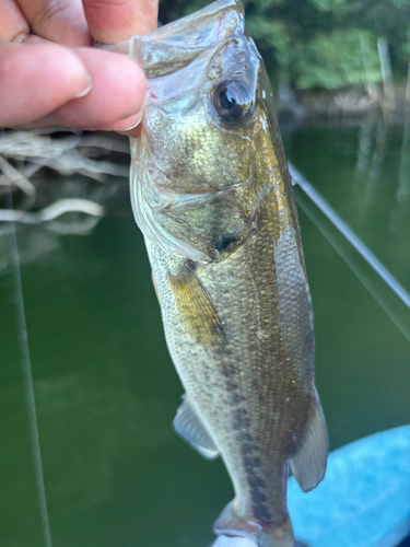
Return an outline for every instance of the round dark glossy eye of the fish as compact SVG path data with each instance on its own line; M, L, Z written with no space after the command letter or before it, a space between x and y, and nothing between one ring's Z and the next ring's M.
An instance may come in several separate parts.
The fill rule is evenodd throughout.
M237 124L253 110L253 93L242 82L223 82L213 92L216 114L227 124Z

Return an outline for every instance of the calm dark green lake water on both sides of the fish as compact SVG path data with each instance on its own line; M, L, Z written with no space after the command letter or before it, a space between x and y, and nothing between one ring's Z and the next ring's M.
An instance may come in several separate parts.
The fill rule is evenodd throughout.
M284 142L293 164L410 292L410 126L379 117L305 123L284 130ZM49 183L55 197L59 184ZM50 547L36 440L54 547L206 547L232 498L221 461L203 461L173 431L183 389L144 243L126 181L106 185L107 214L87 235L17 226L24 302L12 226L0 233L1 547ZM295 193L333 450L409 422L410 312Z

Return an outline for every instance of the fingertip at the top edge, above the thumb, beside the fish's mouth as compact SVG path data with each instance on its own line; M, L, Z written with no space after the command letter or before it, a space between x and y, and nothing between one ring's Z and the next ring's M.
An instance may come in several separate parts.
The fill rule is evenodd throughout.
M156 28L159 0L83 0L93 38L117 44Z

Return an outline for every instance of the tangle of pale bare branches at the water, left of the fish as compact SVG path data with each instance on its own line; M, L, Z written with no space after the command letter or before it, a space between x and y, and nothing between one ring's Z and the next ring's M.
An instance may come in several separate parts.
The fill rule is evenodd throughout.
M44 185L40 173L43 167L49 167L59 175L80 174L98 183L103 183L106 175L128 178L128 162L109 161L105 156L112 152L129 154L128 140L121 140L115 135L84 135L57 128L3 131L0 137L0 189L1 187L19 188L26 197L19 200L20 210L0 209L0 222L22 224L47 222L47 229L58 233L89 232L104 214L104 207L94 199L98 197L99 200L106 191L95 191L91 187L86 191L91 193L93 200L77 198L75 193L84 195L80 189L82 181L79 182L80 187L73 185L72 181L68 181L69 191L74 191L72 198L57 199L37 211L28 209L33 207L38 209L38 205L40 207L44 205ZM32 178L34 175L36 178ZM62 177L60 179L62 184L66 183ZM73 188L79 189L73 190ZM4 194L4 190L1 191ZM59 194L60 196L67 195L63 190ZM55 195L54 190L52 195ZM36 207L37 201L39 203ZM68 212L81 212L90 218L81 220L71 218L67 222L55 221Z

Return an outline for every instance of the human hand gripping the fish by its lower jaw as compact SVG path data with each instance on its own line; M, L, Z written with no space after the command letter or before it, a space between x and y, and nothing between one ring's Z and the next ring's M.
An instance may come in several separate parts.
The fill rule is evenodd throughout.
M0 128L134 126L145 94L142 70L91 46L93 38L115 44L153 31L157 3L0 0Z

